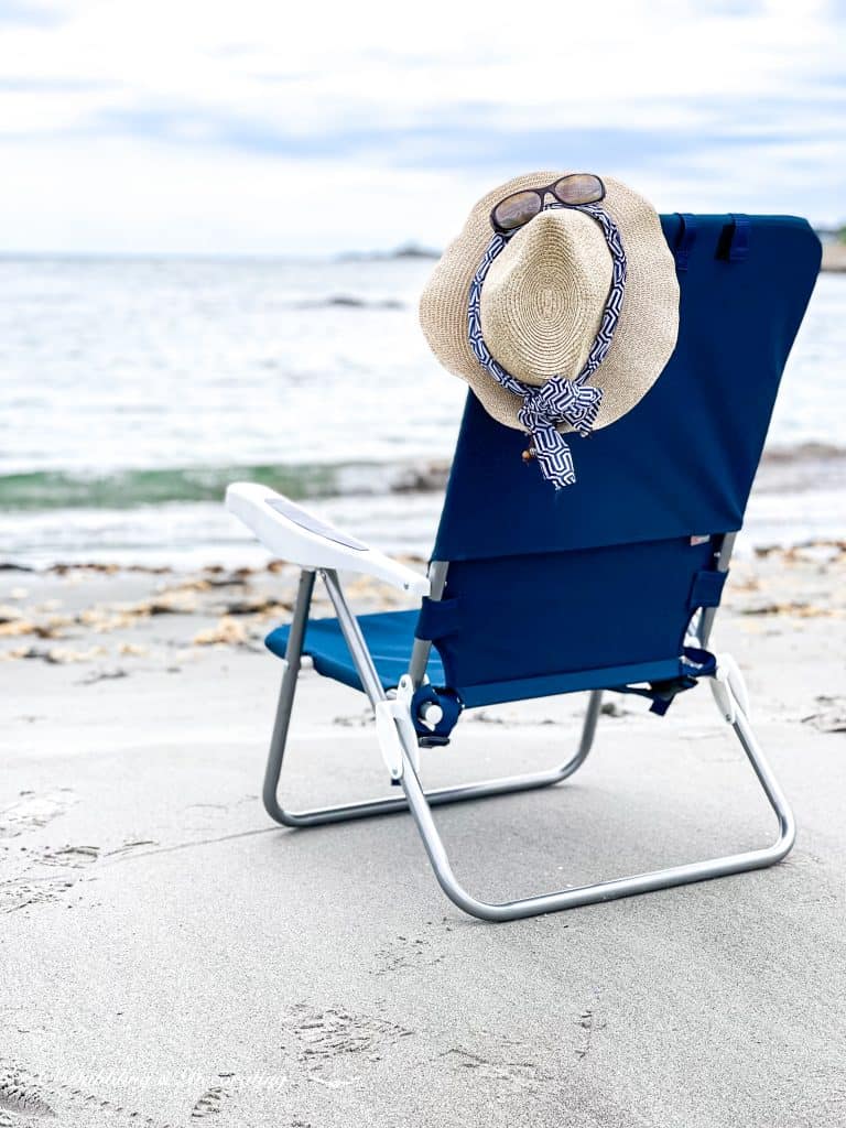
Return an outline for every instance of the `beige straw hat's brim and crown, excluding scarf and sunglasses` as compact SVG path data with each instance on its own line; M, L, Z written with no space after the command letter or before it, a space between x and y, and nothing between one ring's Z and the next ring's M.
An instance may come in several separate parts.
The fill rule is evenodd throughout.
M491 210L512 192L565 175L528 173L483 196L435 266L420 303L423 333L438 360L470 385L495 420L520 431L520 397L502 387L470 349L468 291L493 233ZM616 422L646 395L676 346L679 320L675 261L655 210L619 180L602 180L606 196L599 206L619 229L627 277L611 346L589 381L603 394L594 430ZM576 377L599 331L611 263L599 224L571 208L541 212L515 231L482 289L482 331L494 359L528 385ZM572 429L562 424L558 430Z

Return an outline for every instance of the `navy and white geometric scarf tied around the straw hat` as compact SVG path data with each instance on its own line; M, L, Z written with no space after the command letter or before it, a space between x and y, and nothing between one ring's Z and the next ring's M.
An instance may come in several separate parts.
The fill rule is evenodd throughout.
M564 208L565 204L545 204L544 211L553 208ZM557 423L569 423L582 438L587 438L593 429L593 423L602 403L602 389L593 388L587 380L596 372L608 354L617 328L623 296L626 289L626 254L617 224L611 217L597 204L580 204L575 208L599 223L611 253L614 265L611 270L611 287L602 311L599 333L591 345L588 359L581 372L567 380L563 376L553 376L540 387L523 384L506 372L491 355L482 335L482 285L491 263L508 245L514 232L509 235L494 233L485 252L478 270L470 283L469 303L467 307L467 332L476 359L494 379L513 391L522 399L522 407L517 413L520 423L531 434L535 456L545 478L553 483L556 490L572 485L575 482L573 453L564 435L556 430ZM518 228L518 230L520 230Z

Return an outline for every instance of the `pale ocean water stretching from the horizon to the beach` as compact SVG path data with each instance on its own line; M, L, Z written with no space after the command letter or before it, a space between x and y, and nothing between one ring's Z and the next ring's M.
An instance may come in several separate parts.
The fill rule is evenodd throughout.
M266 558L226 485L393 553L431 547L466 387L416 303L432 261L0 259L0 563ZM846 537L846 275L821 275L749 544Z

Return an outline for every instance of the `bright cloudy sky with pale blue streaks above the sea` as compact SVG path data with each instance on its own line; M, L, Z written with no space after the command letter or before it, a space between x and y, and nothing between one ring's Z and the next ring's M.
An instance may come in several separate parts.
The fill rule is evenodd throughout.
M544 167L846 220L846 5L0 0L0 249L440 247Z

